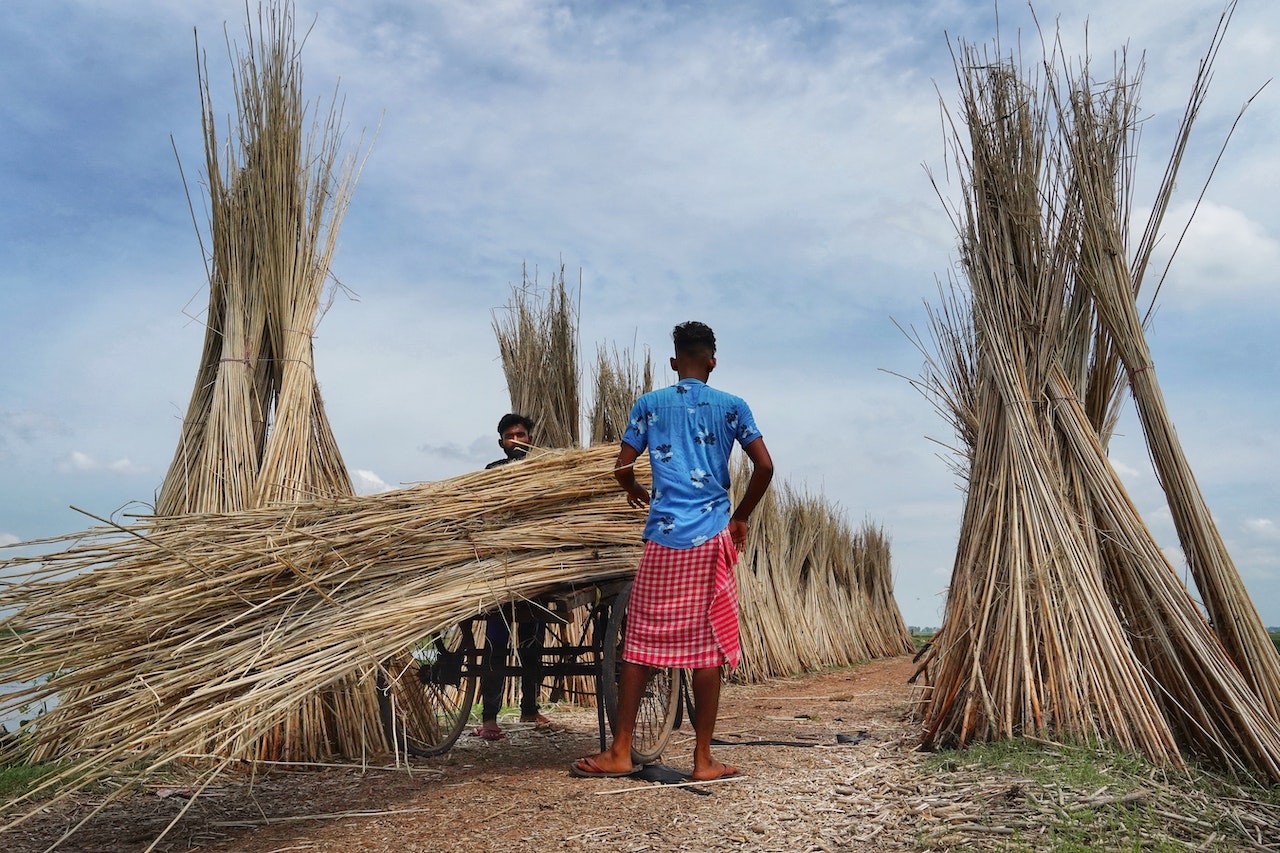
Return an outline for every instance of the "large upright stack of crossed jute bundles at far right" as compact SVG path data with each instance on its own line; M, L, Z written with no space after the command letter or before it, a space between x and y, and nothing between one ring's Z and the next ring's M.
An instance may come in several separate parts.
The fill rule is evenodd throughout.
M1132 254L1140 70L1098 85L1057 53L1042 79L974 47L956 59L969 287L933 314L924 387L964 442L968 494L922 663L927 744L1101 738L1280 779L1280 658L1176 442L1137 307L1228 20ZM1126 388L1212 624L1107 459Z

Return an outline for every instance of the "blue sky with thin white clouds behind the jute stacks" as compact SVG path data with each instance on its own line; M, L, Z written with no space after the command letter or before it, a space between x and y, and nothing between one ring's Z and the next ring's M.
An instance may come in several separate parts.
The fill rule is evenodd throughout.
M961 492L952 437L901 378L956 261L947 38L978 0L297 3L306 93L344 97L369 156L343 223L317 375L365 492L480 467L507 410L492 332L521 265L581 279L585 359L710 323L716 384L755 410L780 475L886 529L909 624L937 625ZM1098 76L1146 56L1149 204L1224 4L1037 4ZM1028 6L1005 53L1041 56ZM0 23L0 542L146 511L202 342L205 272L178 160L202 167L193 33L228 114L242 0L46 0ZM1184 161L1167 247L1242 104L1280 65L1280 5L1242 0ZM1245 113L1149 333L1167 407L1254 603L1280 624L1280 88ZM177 156L175 156L177 151ZM206 207L197 199L197 219ZM1176 556L1130 414L1112 447ZM1180 565L1180 562L1178 564Z

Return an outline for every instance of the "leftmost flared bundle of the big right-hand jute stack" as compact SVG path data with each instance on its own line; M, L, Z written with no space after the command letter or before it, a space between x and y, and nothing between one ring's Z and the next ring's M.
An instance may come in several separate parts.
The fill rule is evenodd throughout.
M977 410L925 740L1055 731L1170 758L1171 735L1119 620L1100 606L1101 573L1069 521L1065 473L1034 410L1048 353L1024 330L1052 328L1061 280L1037 216L1043 115L1004 68L973 55L963 67L975 69L963 79L973 149L964 257L978 361L975 388L955 397Z

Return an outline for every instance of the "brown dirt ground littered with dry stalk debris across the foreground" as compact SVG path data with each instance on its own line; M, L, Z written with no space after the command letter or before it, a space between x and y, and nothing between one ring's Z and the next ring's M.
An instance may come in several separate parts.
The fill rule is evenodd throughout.
M630 779L580 780L568 763L598 747L594 716L552 710L550 731L503 721L508 739L463 738L411 766L260 767L228 774L157 850L406 853L417 850L1052 850L1055 827L1089 815L1147 809L1160 849L1280 849L1280 809L1257 792L1179 784L1152 770L1140 785L1046 784L1020 770L972 768L965 753L919 752L904 719L910 661L876 661L760 684L728 684L718 747L746 776L704 793ZM837 735L849 743L837 743ZM664 756L687 770L691 733ZM760 744L759 742L768 742ZM791 745L795 744L795 745ZM1047 760L1053 749L1046 748ZM1103 768L1105 770L1105 768ZM180 809L165 780L88 825L76 850L146 849ZM3 839L33 853L92 798L61 804ZM1096 849L1138 843L1100 839ZM1075 848L1083 849L1083 848ZM1144 848L1146 849L1146 848Z

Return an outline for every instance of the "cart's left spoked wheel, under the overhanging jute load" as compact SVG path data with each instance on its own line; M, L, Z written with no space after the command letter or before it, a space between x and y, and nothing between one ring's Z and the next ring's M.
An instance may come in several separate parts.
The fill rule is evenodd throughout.
M471 622L463 622L383 663L378 713L397 752L438 756L458 739L476 698L475 648Z

